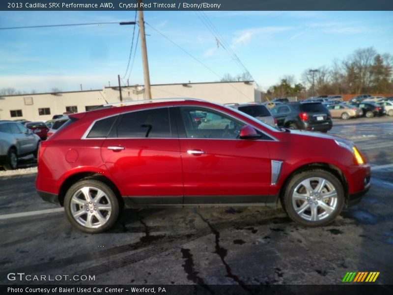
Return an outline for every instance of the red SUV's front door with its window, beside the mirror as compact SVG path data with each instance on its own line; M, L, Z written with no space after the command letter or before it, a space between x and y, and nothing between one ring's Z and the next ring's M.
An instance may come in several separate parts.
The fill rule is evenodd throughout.
M184 204L271 201L266 137L239 139L245 124L215 110L191 106L177 110ZM207 119L195 124L191 113L205 114Z

